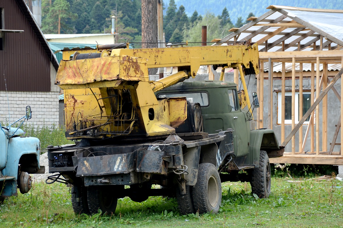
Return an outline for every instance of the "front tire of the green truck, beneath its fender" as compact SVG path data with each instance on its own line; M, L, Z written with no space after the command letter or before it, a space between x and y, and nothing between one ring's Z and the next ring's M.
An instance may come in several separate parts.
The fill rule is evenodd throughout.
M260 167L252 170L250 184L251 192L259 198L269 197L271 188L270 163L267 152L264 150L260 151Z

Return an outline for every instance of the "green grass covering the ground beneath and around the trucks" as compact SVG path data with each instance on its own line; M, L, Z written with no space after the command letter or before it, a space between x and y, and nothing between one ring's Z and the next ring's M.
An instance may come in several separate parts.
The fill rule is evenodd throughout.
M223 183L218 214L182 216L175 199L142 203L119 199L111 216L74 215L69 188L35 183L29 193L0 206L0 227L342 227L342 182L272 178L268 199L251 196L249 183Z

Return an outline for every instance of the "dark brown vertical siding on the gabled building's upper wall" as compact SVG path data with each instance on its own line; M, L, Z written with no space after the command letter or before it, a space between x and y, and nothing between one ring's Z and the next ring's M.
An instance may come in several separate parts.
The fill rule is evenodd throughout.
M4 48L0 50L0 90L50 91L50 60L27 18L14 0L0 0L4 28L24 30L4 33Z

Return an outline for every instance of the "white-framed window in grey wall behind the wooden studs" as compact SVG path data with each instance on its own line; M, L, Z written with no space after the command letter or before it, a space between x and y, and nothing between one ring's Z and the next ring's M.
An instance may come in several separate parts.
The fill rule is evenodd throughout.
M281 92L277 93L277 123L281 124ZM311 107L311 92L303 92L303 115ZM292 92L285 92L285 124L292 124ZM295 92L295 110L294 110L295 123L299 120L299 92ZM307 117L304 124L308 124L310 117Z

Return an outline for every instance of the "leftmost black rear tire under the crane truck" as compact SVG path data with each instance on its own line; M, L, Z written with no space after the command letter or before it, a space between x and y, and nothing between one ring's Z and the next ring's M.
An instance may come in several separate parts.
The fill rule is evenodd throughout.
M71 187L71 205L76 215L89 214L87 188L81 185Z

